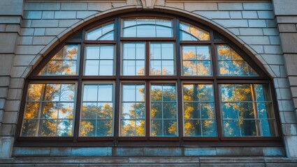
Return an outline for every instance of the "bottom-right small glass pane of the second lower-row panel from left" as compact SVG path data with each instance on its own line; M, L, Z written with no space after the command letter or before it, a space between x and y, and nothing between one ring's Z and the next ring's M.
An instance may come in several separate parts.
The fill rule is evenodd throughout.
M113 120L98 120L96 136L113 136Z

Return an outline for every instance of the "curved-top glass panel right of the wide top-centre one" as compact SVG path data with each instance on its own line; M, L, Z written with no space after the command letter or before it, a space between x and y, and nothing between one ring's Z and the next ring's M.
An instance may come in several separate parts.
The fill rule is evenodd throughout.
M210 40L210 33L197 26L180 22L180 40Z

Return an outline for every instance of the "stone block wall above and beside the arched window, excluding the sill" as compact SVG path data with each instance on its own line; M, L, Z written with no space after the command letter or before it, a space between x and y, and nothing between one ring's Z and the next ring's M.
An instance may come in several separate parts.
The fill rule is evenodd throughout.
M13 0L13 2L22 4L21 0ZM291 97L291 92L294 97L297 97L294 93L296 91L293 91L296 89L294 86L297 86L297 80L294 78L296 72L288 70L288 67L296 67L297 59L291 52L287 54L289 53L288 47L283 47L285 53L283 55L277 29L277 22L285 23L285 29L281 29L284 28L284 25L278 24L281 37L294 40L295 35L290 36L287 31L296 32L296 26L288 24L288 22L291 23L297 19L277 16L276 20L273 3L270 2L215 3L157 0L152 1L155 2L152 5L144 2L126 0L124 2L69 3L34 2L31 0L24 2L24 8L20 8L22 5L0 3L4 6L13 5L12 11L0 11L0 45L3 46L0 48L0 153L6 152L6 148L8 152L13 150L13 136L15 136L24 79L59 42L73 31L94 22L101 15L107 15L117 10L167 10L201 19L212 28L216 27L220 33L231 37L238 46L254 55L255 60L273 77L283 136L291 148L291 151L287 153L289 153L288 156L297 157L297 145L292 146L292 142L296 140L293 136L297 134L297 121L294 113L294 109L296 109L294 104L297 102L293 104ZM275 1L275 8L278 8L279 5ZM16 13L10 14L13 11ZM275 11L278 15L278 10ZM282 45L287 46L286 42L288 41L282 41ZM296 47L292 48L296 49ZM287 66L285 66L284 57ZM293 61L288 58L293 58ZM0 157L10 157L10 153L0 154Z

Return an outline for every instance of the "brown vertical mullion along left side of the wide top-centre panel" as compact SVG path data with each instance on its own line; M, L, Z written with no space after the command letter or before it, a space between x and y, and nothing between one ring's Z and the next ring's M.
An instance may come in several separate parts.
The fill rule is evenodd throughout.
M114 145L117 145L117 138L119 137L119 104L120 104L120 72L121 72L121 18L115 19L115 39L116 41L116 53L115 53L115 122L114 122Z

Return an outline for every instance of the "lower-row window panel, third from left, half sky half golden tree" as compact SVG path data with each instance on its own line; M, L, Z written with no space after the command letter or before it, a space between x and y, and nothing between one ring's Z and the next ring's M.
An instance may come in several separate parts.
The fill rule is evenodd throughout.
M145 84L122 84L120 136L145 136Z

